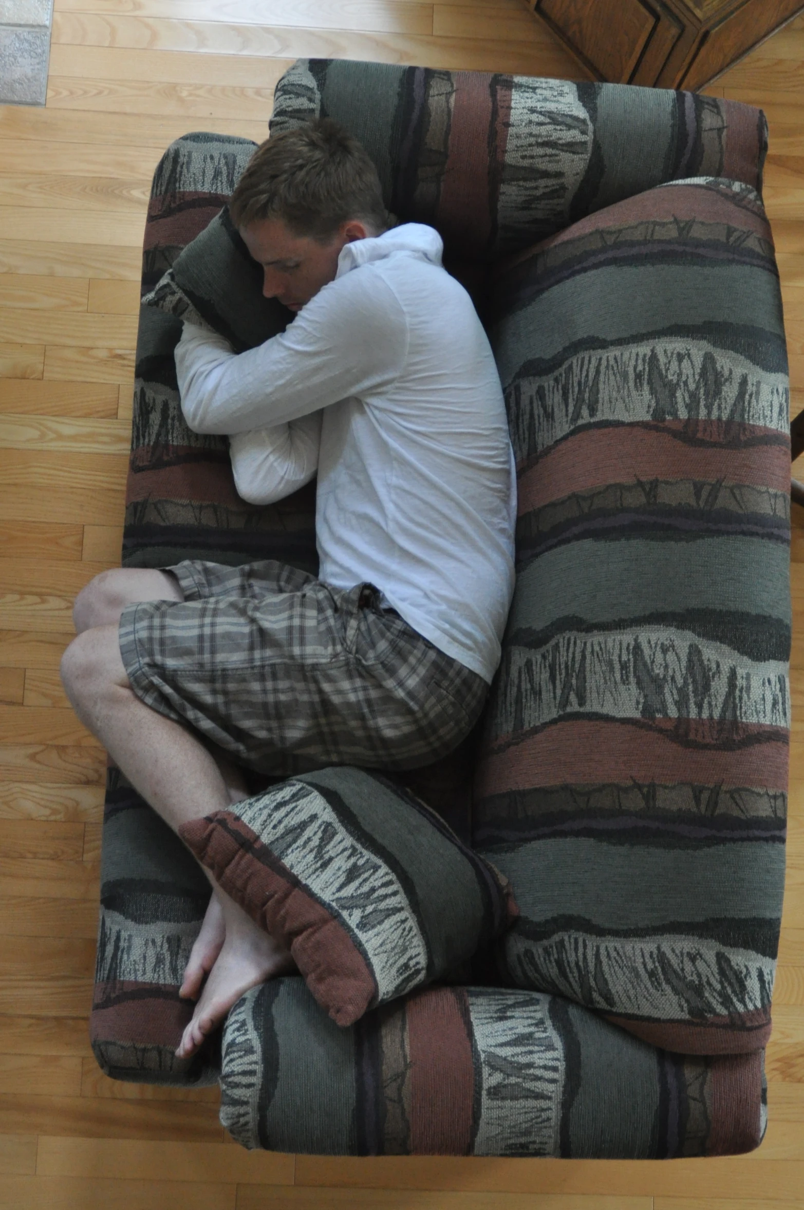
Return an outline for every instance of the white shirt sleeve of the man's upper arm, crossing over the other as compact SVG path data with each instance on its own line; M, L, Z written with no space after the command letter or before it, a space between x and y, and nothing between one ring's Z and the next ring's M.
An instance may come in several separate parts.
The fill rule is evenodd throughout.
M407 355L407 319L372 265L336 278L278 336L233 353L221 336L184 325L175 350L181 410L197 433L288 424L391 386Z

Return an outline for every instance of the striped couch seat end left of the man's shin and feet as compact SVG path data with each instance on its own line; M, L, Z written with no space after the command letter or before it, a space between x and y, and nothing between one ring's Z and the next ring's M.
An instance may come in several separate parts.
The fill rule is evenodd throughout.
M195 1007L179 998L179 987L208 901L209 883L181 841L110 770L89 1019L92 1049L108 1076L216 1082L214 1044L191 1059L175 1056Z

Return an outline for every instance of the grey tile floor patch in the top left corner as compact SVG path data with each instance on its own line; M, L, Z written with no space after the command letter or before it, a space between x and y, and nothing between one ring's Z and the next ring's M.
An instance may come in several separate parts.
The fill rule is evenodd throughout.
M44 105L53 0L0 0L0 104Z

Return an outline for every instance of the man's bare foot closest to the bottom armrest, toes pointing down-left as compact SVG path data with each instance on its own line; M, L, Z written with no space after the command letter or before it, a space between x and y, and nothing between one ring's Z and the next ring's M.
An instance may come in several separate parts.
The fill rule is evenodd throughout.
M222 900L222 911L226 928L224 945L209 972L192 1020L177 1047L178 1059L193 1054L249 987L294 968L289 951L258 928L231 899Z

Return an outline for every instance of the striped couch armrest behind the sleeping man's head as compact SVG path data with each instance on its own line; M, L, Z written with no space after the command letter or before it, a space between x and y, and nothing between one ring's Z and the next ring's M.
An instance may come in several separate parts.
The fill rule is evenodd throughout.
M675 178L759 189L767 146L764 115L718 97L299 59L277 85L271 132L319 115L363 143L394 214L436 227L451 267L527 248Z

